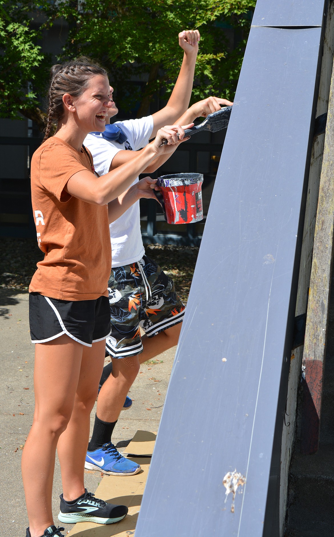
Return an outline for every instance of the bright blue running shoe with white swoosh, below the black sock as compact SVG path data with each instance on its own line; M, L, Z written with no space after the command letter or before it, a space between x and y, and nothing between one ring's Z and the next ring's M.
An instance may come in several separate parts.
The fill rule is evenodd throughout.
M136 462L125 459L112 442L107 442L95 451L88 451L85 468L98 470L107 475L135 475L141 469Z

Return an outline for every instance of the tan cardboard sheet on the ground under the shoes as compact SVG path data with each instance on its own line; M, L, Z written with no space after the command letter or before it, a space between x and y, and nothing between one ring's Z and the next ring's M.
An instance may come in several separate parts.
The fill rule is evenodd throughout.
M143 439L136 440L135 444L140 444L145 454L153 451L155 433L137 431L133 440L136 437ZM145 446L145 444L148 445ZM129 508L127 516L116 524L78 523L67 534L68 537L129 537L134 533L151 459L148 456L128 458L137 462L142 471L132 476L105 475L101 477L101 482L95 492L97 498L106 502L127 505Z

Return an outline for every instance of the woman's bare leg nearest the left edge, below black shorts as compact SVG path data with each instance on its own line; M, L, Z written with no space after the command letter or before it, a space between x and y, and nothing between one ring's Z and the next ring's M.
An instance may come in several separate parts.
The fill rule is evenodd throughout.
M33 424L22 454L30 533L53 524L52 482L56 445L71 417L83 345L66 335L35 345Z

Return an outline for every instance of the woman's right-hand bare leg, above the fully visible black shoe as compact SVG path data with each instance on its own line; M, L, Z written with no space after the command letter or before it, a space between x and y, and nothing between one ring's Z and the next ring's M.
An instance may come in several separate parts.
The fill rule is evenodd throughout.
M63 496L68 502L84 494L84 465L88 448L90 413L96 401L105 357L105 340L84 347L74 408L58 441Z

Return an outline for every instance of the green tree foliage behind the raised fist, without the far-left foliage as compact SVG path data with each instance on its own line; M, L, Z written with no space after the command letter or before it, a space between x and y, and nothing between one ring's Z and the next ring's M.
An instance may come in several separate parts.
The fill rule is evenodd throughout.
M165 89L168 98L172 90L183 57L178 33L198 28L193 99L213 94L233 98L254 6L255 0L81 0L79 8L64 2L63 17L71 21L64 57L100 59L110 71L117 103L126 110L141 101L141 117L157 92ZM241 38L233 52L222 26ZM144 91L129 84L144 74L149 75Z

